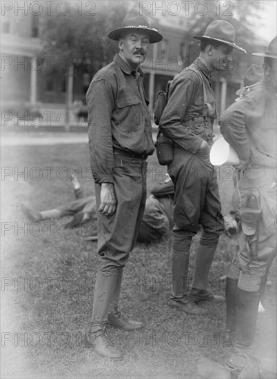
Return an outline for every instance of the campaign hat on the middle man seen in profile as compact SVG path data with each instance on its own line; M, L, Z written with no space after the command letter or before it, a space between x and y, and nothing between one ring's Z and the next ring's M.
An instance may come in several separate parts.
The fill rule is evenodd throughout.
M203 36L192 36L196 39L210 39L212 41L219 41L225 43L226 45L232 46L236 50L240 50L246 53L246 50L240 48L235 43L236 30L234 26L228 21L215 20L207 25L207 29Z

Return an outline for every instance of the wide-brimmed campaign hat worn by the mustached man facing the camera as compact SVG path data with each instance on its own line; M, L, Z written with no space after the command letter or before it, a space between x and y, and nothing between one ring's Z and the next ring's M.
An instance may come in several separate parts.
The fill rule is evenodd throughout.
M123 32L134 29L139 32L145 32L150 39L150 43L156 43L163 39L163 36L158 30L151 27L150 21L143 14L139 14L139 12L134 9L126 14L121 28L114 29L107 35L110 39L119 41Z

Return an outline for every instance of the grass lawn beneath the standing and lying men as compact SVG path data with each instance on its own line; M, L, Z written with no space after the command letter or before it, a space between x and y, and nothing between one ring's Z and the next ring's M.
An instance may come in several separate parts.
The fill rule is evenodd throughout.
M165 178L165 167L158 165L155 155L148 163L150 190L155 181ZM204 317L186 316L167 305L170 238L156 245L138 243L125 267L121 309L144 320L146 327L131 333L109 330L123 349L124 360L109 362L85 347L99 263L96 243L83 238L86 227L66 233L62 224L70 218L27 223L19 203L42 210L72 200L68 170L79 176L85 193L92 194L89 167L88 146L82 143L3 148L1 377L197 378L198 358L223 362L229 353L230 347L223 343L225 305L203 305L209 308ZM232 197L230 171L218 170L223 212L228 212ZM191 274L197 242L198 236ZM224 294L225 282L219 278L235 248L234 238L220 237L209 276L214 293ZM258 316L258 340L265 356L274 354L276 347L275 267L274 262L272 285L264 295L267 312Z

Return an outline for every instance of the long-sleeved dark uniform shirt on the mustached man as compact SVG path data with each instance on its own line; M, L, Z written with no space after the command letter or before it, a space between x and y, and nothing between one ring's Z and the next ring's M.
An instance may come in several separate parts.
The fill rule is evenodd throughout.
M114 148L153 154L152 124L143 90L119 54L96 73L87 93L90 161L95 183L114 183Z

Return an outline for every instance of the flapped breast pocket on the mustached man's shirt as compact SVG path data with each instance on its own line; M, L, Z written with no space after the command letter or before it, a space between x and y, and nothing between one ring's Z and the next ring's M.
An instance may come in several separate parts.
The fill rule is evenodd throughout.
M114 115L116 127L121 132L136 131L144 125L143 106L136 96L120 96Z

